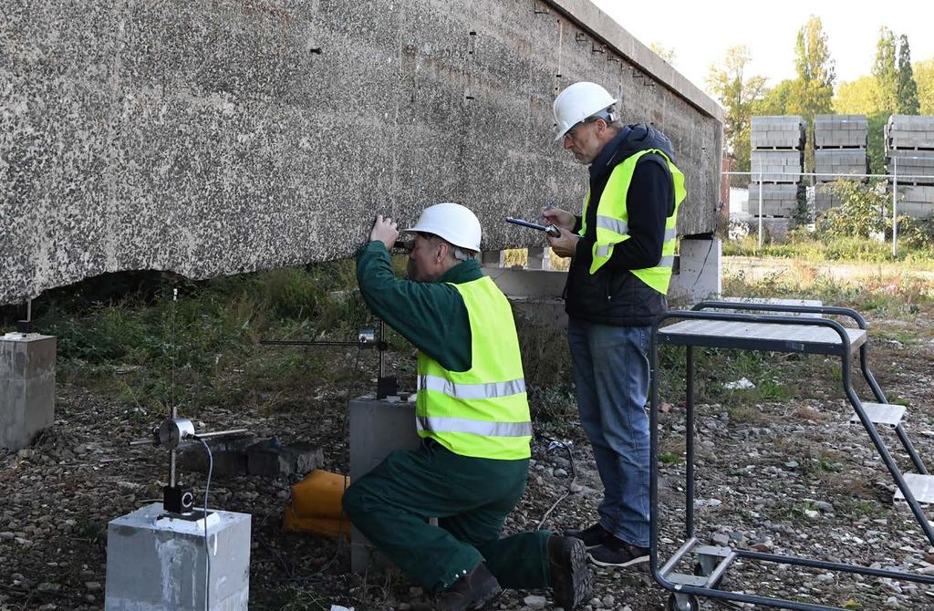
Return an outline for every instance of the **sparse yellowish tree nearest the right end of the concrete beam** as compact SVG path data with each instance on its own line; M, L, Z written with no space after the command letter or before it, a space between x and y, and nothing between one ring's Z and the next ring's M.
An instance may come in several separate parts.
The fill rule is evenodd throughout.
M726 109L723 137L739 172L749 171L749 132L753 107L765 91L765 77L745 77L751 61L744 45L731 47L722 67L710 66L707 89ZM739 183L739 181L737 181Z

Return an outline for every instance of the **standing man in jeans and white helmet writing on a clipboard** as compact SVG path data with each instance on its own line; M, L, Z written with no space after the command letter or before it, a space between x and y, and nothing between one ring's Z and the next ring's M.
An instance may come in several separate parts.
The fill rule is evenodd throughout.
M603 483L596 523L565 534L591 561L631 566L649 558L649 431L645 413L650 328L668 305L675 221L685 178L672 143L651 125L623 125L616 99L596 83L574 83L555 100L564 149L588 166L581 216L546 208L572 257L565 287L568 341L581 423Z

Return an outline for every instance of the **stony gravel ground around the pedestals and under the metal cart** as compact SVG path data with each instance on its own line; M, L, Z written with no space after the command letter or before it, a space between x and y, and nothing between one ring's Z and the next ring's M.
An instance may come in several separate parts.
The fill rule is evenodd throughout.
M886 339L874 341L870 362L883 388L909 403L905 428L934 466L934 321L872 322ZM832 369L821 357L810 358L818 369ZM781 378L783 360L775 361L774 376ZM282 411L208 408L198 419L208 429L246 427L284 442L316 443L324 449L325 468L345 472L344 393L322 388L299 402L302 408ZM666 559L684 537L685 465L679 457L685 415L681 405L662 407L661 446L673 457L660 473L660 554ZM743 409L701 403L697 534L718 546L934 575L934 549L908 509L893 504L894 484L865 431L847 423L851 413L836 388L828 388L825 398ZM106 523L156 500L164 483L164 452L126 445L156 420L100 391L60 383L50 431L34 447L0 457L0 609L103 608ZM548 440L536 439L528 490L507 520L507 532L538 527L565 491L570 495L545 528L577 527L595 518L601 486L592 454L579 427L565 427L566 433L578 431L567 433L576 477L572 482L564 450L548 451ZM895 434L886 431L883 437L907 467ZM203 476L185 479L203 490ZM283 533L289 486L255 476L212 482L213 506L253 516L250 609L430 608L426 594L399 575L349 575L347 547L333 539ZM595 575L587 611L660 609L668 598L642 571L599 569ZM934 609L934 586L773 563L734 563L721 588L850 609ZM552 608L543 594L507 591L494 606ZM704 608L739 606L703 602Z

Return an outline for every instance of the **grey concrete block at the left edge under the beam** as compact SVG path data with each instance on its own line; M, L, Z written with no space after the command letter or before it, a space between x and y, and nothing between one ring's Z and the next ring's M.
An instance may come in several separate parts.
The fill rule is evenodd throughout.
M0 337L0 449L17 450L55 421L55 350L50 335Z

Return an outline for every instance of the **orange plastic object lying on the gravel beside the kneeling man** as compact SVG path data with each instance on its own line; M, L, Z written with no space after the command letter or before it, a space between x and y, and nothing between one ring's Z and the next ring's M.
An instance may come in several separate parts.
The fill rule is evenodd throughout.
M316 469L292 486L291 503L286 505L282 528L285 531L350 535L350 520L341 500L350 478Z

